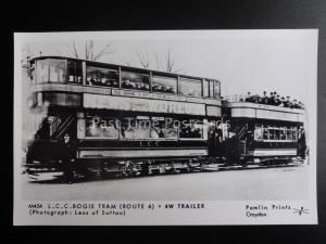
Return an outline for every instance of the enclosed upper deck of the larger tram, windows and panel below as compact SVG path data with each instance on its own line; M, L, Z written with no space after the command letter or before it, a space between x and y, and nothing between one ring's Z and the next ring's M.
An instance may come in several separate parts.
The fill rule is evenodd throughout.
M30 60L29 105L221 116L218 80L63 56Z

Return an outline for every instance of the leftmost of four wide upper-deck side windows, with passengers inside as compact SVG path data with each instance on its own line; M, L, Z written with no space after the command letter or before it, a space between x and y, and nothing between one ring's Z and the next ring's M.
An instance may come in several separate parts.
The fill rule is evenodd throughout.
M95 76L91 77L90 73L93 72ZM101 77L100 73L112 73L114 75L116 75L116 79L112 79L113 82L116 82L115 85L108 85L108 84L103 84L100 79L102 79L103 77ZM115 68L105 68L105 67L97 67L97 66L91 66L91 65L87 65L86 66L86 86L90 86L90 87L108 87L108 88L118 88L120 87L120 75L118 75L118 69ZM91 78L90 78L91 77ZM109 76L108 76L109 77ZM95 79L93 81L91 79ZM112 80L110 80L109 78L106 78L106 81L112 82Z

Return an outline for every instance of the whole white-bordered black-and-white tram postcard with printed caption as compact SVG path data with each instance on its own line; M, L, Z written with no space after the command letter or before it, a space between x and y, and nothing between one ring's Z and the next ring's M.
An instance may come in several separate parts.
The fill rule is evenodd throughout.
M314 224L317 29L16 33L14 224Z

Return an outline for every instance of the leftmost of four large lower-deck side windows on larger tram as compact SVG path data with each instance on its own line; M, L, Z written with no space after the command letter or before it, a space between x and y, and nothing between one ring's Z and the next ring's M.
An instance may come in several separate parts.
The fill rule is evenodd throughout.
M113 117L101 118L98 116L87 116L85 136L88 138L117 139L117 123Z

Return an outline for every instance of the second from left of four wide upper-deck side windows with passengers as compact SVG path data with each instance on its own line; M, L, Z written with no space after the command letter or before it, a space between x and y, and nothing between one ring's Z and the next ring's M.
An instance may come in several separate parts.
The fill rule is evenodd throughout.
M136 80L137 78L135 78L133 80L133 79L130 79L130 76L127 77L127 78L125 78L126 77L125 74L130 74L130 75L134 75L134 76L138 76L137 78L141 77L140 78L141 81L137 81ZM145 82L143 80L147 80L147 82ZM127 81L130 82L129 86L133 86L131 84L134 84L135 87L126 87L125 82L127 82ZM145 87L146 89L142 89L140 87L138 88L137 86L139 84L142 84L142 88ZM122 69L121 70L121 88L122 89L130 89L130 90L148 91L148 92L150 92L150 87L151 87L151 77L150 77L150 74L141 73L141 72L134 72L134 70L129 70L129 69Z

